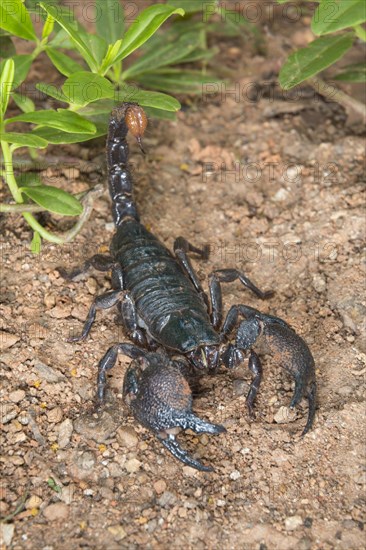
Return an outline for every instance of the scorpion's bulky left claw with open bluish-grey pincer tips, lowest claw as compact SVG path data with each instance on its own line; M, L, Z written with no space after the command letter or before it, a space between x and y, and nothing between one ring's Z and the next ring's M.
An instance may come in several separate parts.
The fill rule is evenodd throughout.
M192 412L192 393L179 365L160 353L132 361L123 384L123 395L132 414L178 460L204 472L209 466L191 457L176 440L181 430L219 434L224 426L211 424Z

